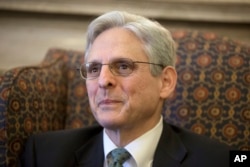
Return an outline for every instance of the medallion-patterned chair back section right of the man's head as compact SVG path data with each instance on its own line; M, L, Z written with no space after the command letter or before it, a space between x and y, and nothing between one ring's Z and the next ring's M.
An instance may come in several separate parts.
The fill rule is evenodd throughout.
M250 47L214 33L176 31L178 84L167 121L250 150Z

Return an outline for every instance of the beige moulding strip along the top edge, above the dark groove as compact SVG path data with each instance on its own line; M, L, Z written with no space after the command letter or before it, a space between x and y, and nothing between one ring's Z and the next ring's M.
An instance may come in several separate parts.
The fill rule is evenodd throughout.
M250 23L250 0L2 0L0 9L77 15L127 10L171 20Z

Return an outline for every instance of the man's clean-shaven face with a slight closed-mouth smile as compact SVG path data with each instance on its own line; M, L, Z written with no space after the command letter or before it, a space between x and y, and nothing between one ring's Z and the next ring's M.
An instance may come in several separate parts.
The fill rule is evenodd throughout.
M108 64L117 58L148 62L141 41L122 28L101 33L86 62ZM99 77L86 80L92 112L103 127L143 130L159 121L161 77L153 77L148 64L136 66L129 76L117 76L103 65Z

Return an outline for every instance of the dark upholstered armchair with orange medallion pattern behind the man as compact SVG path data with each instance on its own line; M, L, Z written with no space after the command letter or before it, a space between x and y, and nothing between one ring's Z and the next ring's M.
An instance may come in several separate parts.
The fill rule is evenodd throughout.
M174 31L178 84L164 119L250 149L250 47L214 33ZM83 52L50 49L41 64L0 77L0 166L17 166L28 136L90 126ZM52 148L53 149L53 148Z

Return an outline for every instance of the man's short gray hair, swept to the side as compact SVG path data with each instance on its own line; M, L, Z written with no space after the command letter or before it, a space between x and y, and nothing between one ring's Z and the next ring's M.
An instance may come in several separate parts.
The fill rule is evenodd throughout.
M121 27L134 33L143 43L149 61L163 66L175 66L175 43L171 33L158 22L127 12L112 11L93 20L87 30L85 60L98 35L105 30ZM161 73L159 66L151 66L151 73Z

